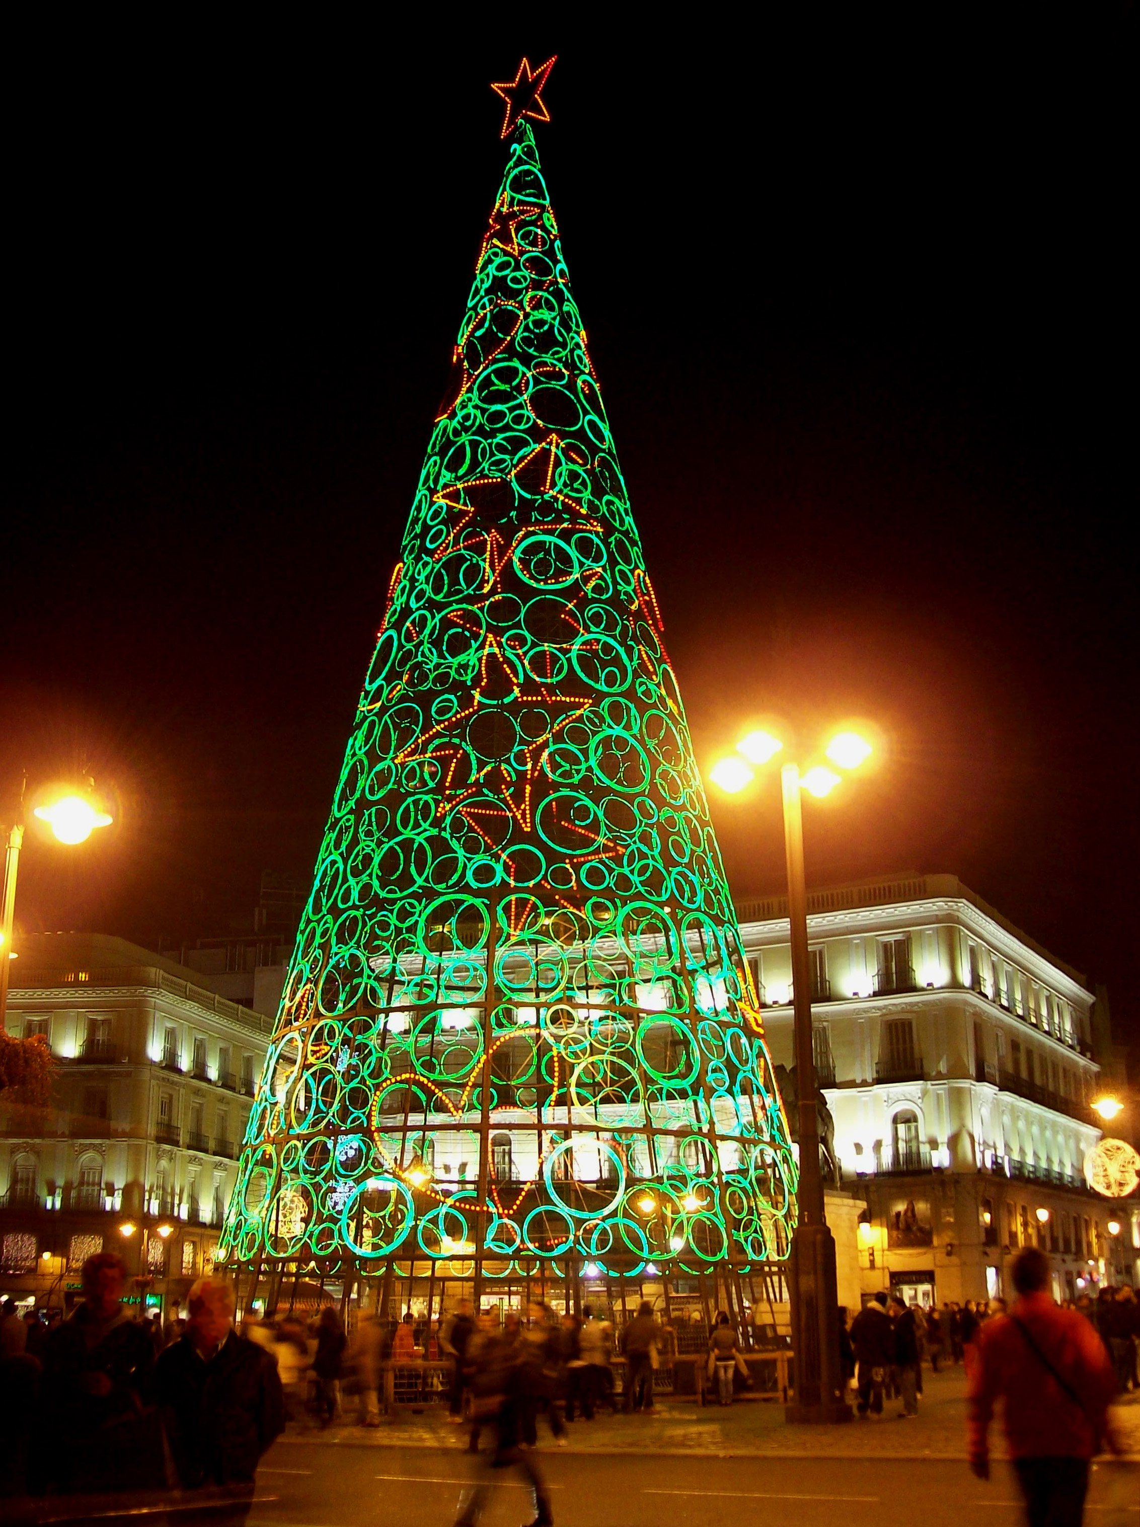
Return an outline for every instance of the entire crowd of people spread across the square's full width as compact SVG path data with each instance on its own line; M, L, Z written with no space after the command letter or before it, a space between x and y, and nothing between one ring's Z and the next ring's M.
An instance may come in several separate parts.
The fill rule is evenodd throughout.
M1122 1287L1056 1304L1047 1292L1048 1258L1033 1248L1018 1254L1010 1272L1012 1309L1004 1299L939 1309L896 1292L873 1295L850 1322L841 1310L844 1380L855 1387L861 1419L882 1417L891 1397L902 1403L899 1417L913 1419L923 1367L964 1365L975 1472L987 1475L986 1434L993 1402L1004 1396L1030 1521L1033 1501L1051 1501L1050 1509L1068 1501L1076 1515L1058 1519L1079 1521L1088 1460L1109 1435L1108 1402L1140 1388L1140 1303ZM433 1321L362 1312L351 1339L331 1306L311 1321L282 1310L238 1332L233 1290L221 1280L195 1283L185 1316L163 1322L130 1310L125 1277L119 1257L99 1254L84 1264L84 1298L67 1318L24 1315L11 1301L0 1307L9 1495L206 1490L209 1519L238 1527L258 1460L298 1406L328 1425L354 1397L356 1419L375 1426L383 1374L398 1368L420 1371L423 1383L430 1379L449 1419L470 1428L470 1452L482 1451L490 1467L522 1469L536 1522L549 1527L549 1498L530 1457L540 1423L565 1445L578 1419L652 1411L670 1330L644 1301L620 1333L604 1312L559 1315L542 1303L502 1319L498 1310L476 1316L470 1303ZM618 1354L626 1368L620 1394ZM749 1382L736 1327L719 1312L707 1376L722 1405L731 1403L737 1374ZM482 1510L491 1478L472 1487L461 1527Z

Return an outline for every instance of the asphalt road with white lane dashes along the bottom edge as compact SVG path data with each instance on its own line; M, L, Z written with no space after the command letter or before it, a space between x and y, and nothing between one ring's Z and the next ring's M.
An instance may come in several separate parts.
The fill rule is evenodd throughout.
M989 1483L945 1458L621 1457L542 1451L559 1527L961 1527L1021 1521L1007 1464ZM420 1527L455 1519L464 1489L485 1463L447 1449L374 1449L284 1440L258 1475L249 1527ZM502 1475L484 1527L531 1521L530 1490ZM1140 1519L1135 1469L1100 1466L1088 1521Z

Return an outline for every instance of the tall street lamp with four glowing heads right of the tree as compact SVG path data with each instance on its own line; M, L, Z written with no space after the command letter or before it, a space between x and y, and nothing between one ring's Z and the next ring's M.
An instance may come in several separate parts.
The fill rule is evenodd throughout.
M713 783L739 794L755 779L754 768L771 764L784 744L771 731L749 731L736 745L736 756L720 759L710 771ZM792 1296L792 1350L795 1353L795 1403L789 1422L849 1422L839 1367L839 1298L835 1272L835 1238L824 1217L820 1171L820 1089L812 1044L812 988L807 964L807 889L804 884L804 829L800 791L823 799L842 774L859 768L873 747L858 731L838 731L824 750L829 764L806 771L786 762L780 768L784 808L784 857L787 861L787 918L792 935L792 1011L795 1075L800 1110L798 1219L792 1235L789 1287Z

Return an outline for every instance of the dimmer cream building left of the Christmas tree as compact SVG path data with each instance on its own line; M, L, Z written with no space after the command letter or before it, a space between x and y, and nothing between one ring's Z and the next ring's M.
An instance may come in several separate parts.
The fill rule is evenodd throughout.
M200 980L125 939L20 941L8 1032L56 1066L46 1110L0 1093L0 1293L69 1304L95 1251L153 1306L211 1270L272 1020Z

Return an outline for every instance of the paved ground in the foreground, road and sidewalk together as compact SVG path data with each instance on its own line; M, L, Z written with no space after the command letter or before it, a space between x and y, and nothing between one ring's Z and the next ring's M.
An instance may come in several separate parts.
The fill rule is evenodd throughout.
M1016 1481L992 1434L993 1474L964 1461L961 1370L925 1374L917 1420L787 1426L778 1405L731 1408L664 1400L653 1416L577 1420L559 1448L539 1423L534 1458L546 1475L559 1527L961 1527L1021 1522ZM351 1403L351 1402L349 1402ZM1131 1455L1094 1467L1087 1521L1140 1527L1140 1396L1117 1406ZM375 1429L290 1425L258 1474L249 1527L420 1527L455 1519L462 1492L485 1471L465 1452L467 1429L438 1406L403 1411ZM533 1516L516 1471L494 1471L485 1527Z

